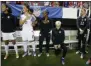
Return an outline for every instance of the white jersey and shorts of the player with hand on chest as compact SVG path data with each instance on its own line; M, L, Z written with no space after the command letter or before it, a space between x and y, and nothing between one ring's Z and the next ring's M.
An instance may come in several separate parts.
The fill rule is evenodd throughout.
M34 17L34 15L29 15L29 16L30 18L22 25L21 35L22 35L23 41L34 40L32 22L34 22L36 18ZM21 20L24 20L25 18L26 16L24 14L21 15Z

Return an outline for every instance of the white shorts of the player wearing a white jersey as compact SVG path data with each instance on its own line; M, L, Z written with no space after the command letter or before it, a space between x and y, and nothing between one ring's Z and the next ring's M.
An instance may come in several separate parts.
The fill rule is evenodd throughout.
M28 31L28 30L22 30L21 31L21 36L23 41L33 41L34 40L34 33L33 31Z

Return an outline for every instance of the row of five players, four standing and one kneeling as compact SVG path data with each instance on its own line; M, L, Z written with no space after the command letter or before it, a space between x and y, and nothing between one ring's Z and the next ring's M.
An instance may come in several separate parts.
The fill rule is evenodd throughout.
M1 14L1 30L2 30L2 37L3 41L5 42L5 52L6 55L4 59L7 59L9 56L8 54L8 44L9 41L12 41L12 44L14 44L14 49L16 52L16 58L19 58L18 54L18 48L16 44L16 20L15 16L12 14L12 10L10 7L8 7L7 4L2 4L2 14ZM64 44L65 40L65 32L61 28L61 21L55 22L55 28L52 29L52 20L48 17L48 11L44 11L43 18L39 22L39 54L38 57L42 55L42 46L43 41L46 40L46 55L49 57L49 43L52 33L52 42L55 49L55 54L57 55L57 52L62 49L63 55L61 57L61 62L64 65L65 64L65 56L67 53L67 47ZM26 55L33 55L36 56L36 46L32 45L32 52L29 50L28 44L31 43L34 40L34 33L33 33L33 27L37 24L37 19L35 15L33 14L33 10L29 8L27 4L23 5L23 14L20 16L20 26L22 26L21 36L22 40L24 42L24 54L22 57L25 57ZM81 16L77 19L77 28L78 28L78 51L76 53L81 52L81 58L84 57L85 54L85 47L86 47L86 35L87 35L87 28L89 28L89 20L86 16L86 10L81 10ZM89 29L88 29L89 31ZM82 41L82 45L81 45ZM80 46L81 45L81 46ZM61 50L60 50L61 51Z

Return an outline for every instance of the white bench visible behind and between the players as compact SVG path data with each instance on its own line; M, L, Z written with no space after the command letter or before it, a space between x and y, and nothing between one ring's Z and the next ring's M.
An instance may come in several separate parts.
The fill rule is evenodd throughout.
M34 41L32 41L31 43L29 43L28 45L31 46L31 45L39 45L39 42L38 42L38 38L39 38L39 33L40 31L37 30L37 31L34 31L34 37L36 38ZM17 38L21 37L21 34L20 34L20 31L16 31L16 35L17 35ZM76 39L76 36L77 36L77 30L65 30L65 41L64 43L65 44L68 44L68 48L69 49L73 49L73 44L74 43L77 43L78 40ZM73 38L72 38L73 37ZM24 42L20 41L20 42L16 42L17 46L23 46ZM46 42L44 41L43 42L43 45L45 45ZM50 41L50 45L52 44L52 41ZM4 48L5 44L4 42L2 42L1 44L1 48ZM13 44L10 42L9 47L13 46ZM54 47L50 47L50 48L54 48ZM30 48L32 49L32 48ZM38 48L36 48L38 49ZM14 50L14 49L9 49L9 50ZM2 49L2 51L4 51L4 49Z

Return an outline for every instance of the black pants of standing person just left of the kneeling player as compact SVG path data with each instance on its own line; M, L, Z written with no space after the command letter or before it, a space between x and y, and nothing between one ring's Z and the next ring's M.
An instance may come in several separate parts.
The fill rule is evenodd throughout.
M46 53L49 53L49 42L50 42L50 34L40 34L39 36L39 52L42 53L42 46L43 46L43 41L46 39Z

